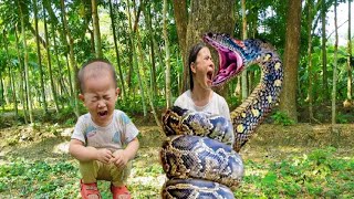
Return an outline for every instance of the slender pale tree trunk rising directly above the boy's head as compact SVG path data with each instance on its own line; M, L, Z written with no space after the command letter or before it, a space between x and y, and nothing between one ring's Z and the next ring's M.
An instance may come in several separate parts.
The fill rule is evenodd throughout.
M91 2L92 2L93 33L95 38L95 53L96 53L96 57L103 57L102 45L101 45L100 21L98 21L98 13L97 13L97 2L96 0L91 0Z

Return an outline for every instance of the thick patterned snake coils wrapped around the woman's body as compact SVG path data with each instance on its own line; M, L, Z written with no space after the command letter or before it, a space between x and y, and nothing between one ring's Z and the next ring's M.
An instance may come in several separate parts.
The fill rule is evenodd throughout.
M165 185L163 198L232 196L229 188L238 187L243 164L232 149L231 124L219 115L178 106L165 113L163 123L168 138L163 144L160 157L167 178L174 180Z

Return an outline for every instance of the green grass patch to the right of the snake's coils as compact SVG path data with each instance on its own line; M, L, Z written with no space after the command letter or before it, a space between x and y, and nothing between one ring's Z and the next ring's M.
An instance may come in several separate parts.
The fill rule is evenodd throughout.
M237 198L353 198L354 158L335 156L333 147L321 148L301 157L264 161L262 167L246 161L246 176L235 191ZM258 170L268 170L266 174ZM248 174L248 171L252 171Z

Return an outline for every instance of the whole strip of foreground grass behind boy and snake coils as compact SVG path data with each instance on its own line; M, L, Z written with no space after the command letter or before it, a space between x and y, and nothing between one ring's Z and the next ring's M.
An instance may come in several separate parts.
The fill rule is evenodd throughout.
M76 161L9 158L0 166L0 198L80 197ZM139 161L136 159L134 161ZM246 176L237 198L353 198L354 158L336 156L336 149L320 148L302 156L244 161ZM135 198L159 198L164 171L158 163L133 167L128 188ZM110 182L98 181L103 198L111 198ZM11 195L10 195L11 193Z

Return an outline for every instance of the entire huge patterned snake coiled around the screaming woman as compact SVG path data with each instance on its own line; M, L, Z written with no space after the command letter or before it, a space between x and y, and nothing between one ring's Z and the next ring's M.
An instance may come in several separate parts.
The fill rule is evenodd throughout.
M168 180L163 198L233 198L243 176L238 155L257 126L278 103L283 81L282 63L275 50L261 40L239 41L227 34L207 33L204 41L219 54L214 86L223 85L251 64L262 70L260 83L230 113L221 116L170 107L163 116L167 140L160 158Z

